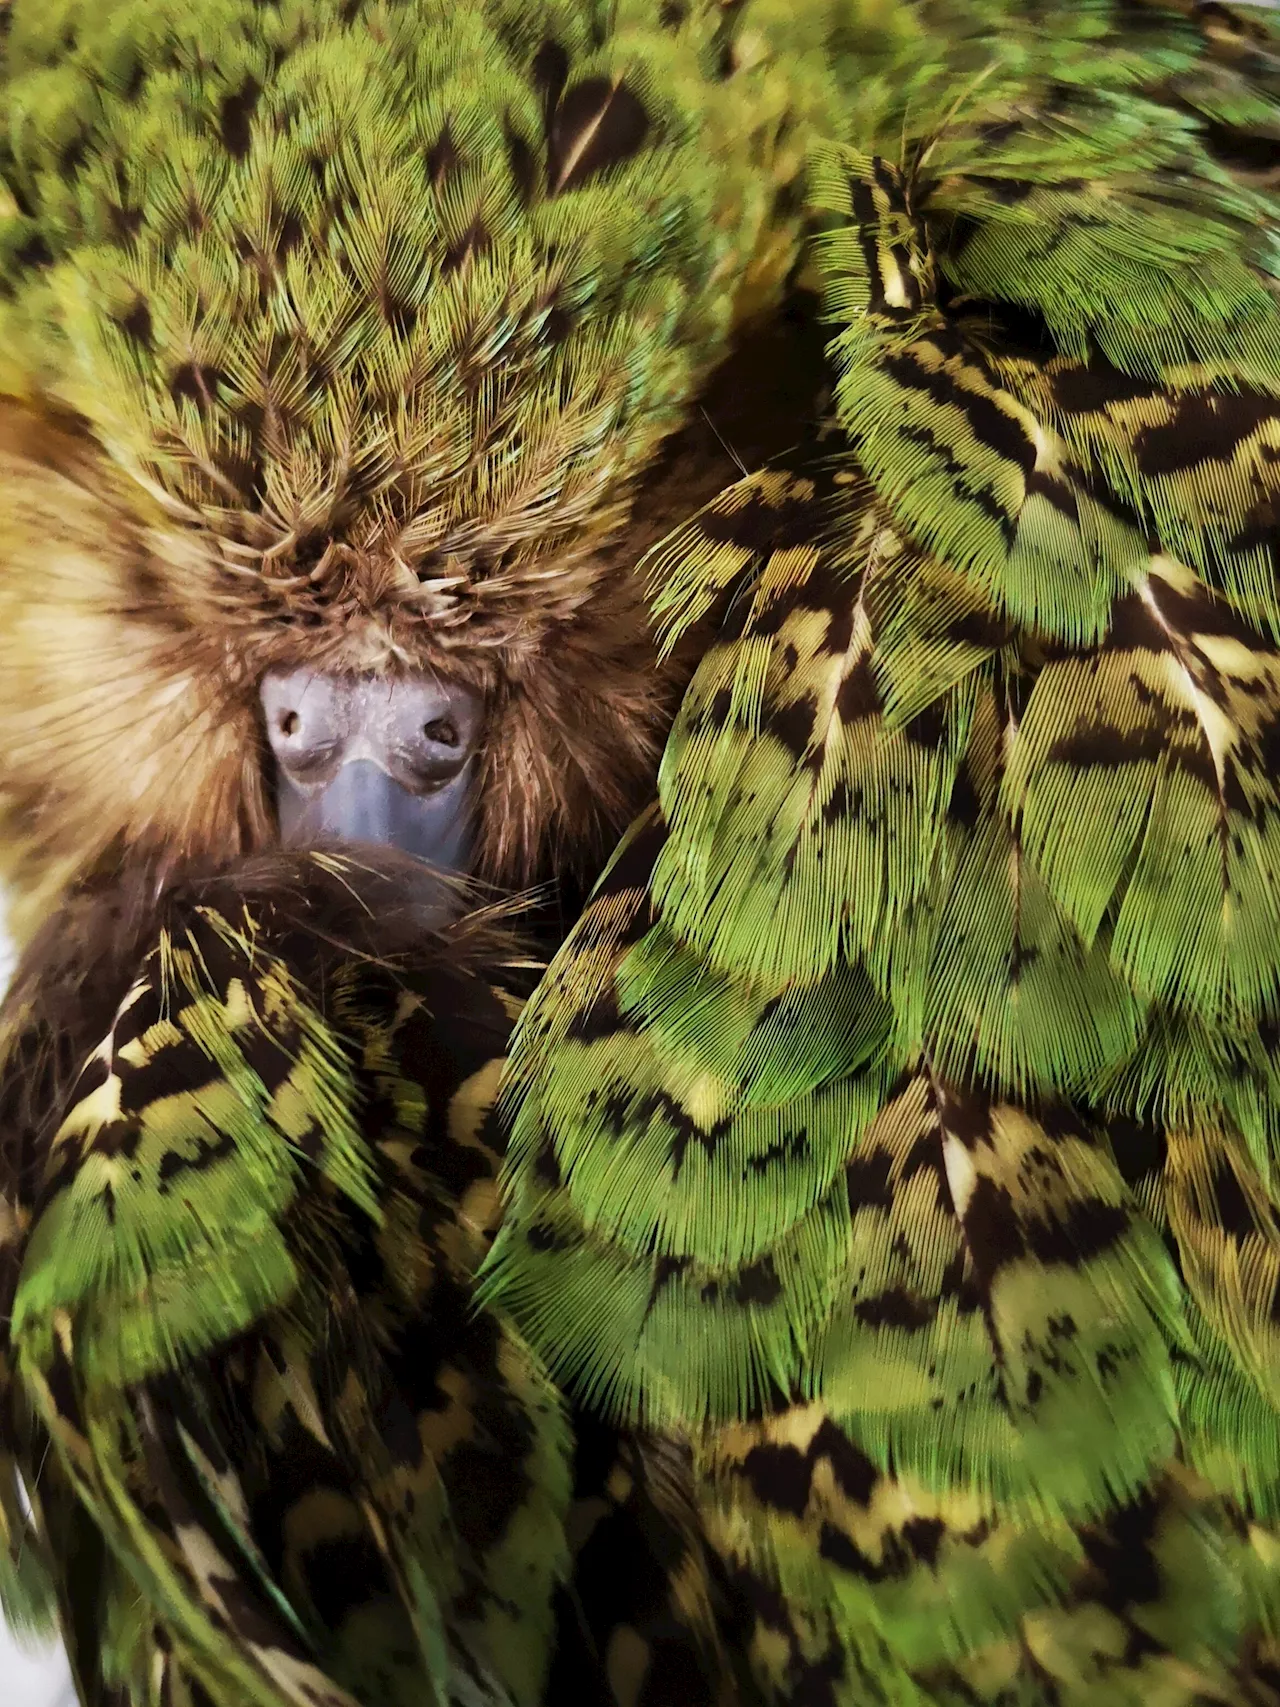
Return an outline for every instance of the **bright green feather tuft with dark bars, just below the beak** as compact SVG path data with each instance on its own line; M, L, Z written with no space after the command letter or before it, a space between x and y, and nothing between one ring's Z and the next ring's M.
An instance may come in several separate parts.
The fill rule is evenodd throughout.
M90 1383L131 1386L285 1306L280 1221L311 1162L377 1214L341 1050L278 959L208 920L167 935L53 1139L12 1335L75 1320ZM305 1159L305 1161L304 1161Z

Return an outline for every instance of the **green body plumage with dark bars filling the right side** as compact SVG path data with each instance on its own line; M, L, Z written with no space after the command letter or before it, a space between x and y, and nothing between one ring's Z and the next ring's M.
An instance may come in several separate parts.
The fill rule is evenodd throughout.
M1270 24L850 9L840 440L517 1031L486 1297L689 1442L770 1698L1280 1690Z

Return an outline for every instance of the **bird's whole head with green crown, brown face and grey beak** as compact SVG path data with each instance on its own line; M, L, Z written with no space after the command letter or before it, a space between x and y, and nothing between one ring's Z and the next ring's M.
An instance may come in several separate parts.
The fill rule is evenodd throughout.
M671 439L797 244L799 97L732 19L19 0L19 889L280 835L507 888L604 852L669 700L635 563L727 475Z

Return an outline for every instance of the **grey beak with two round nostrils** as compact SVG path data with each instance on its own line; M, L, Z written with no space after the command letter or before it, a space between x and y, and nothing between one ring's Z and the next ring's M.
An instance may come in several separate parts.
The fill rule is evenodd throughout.
M471 869L481 703L433 679L278 671L261 686L282 840L374 842Z

